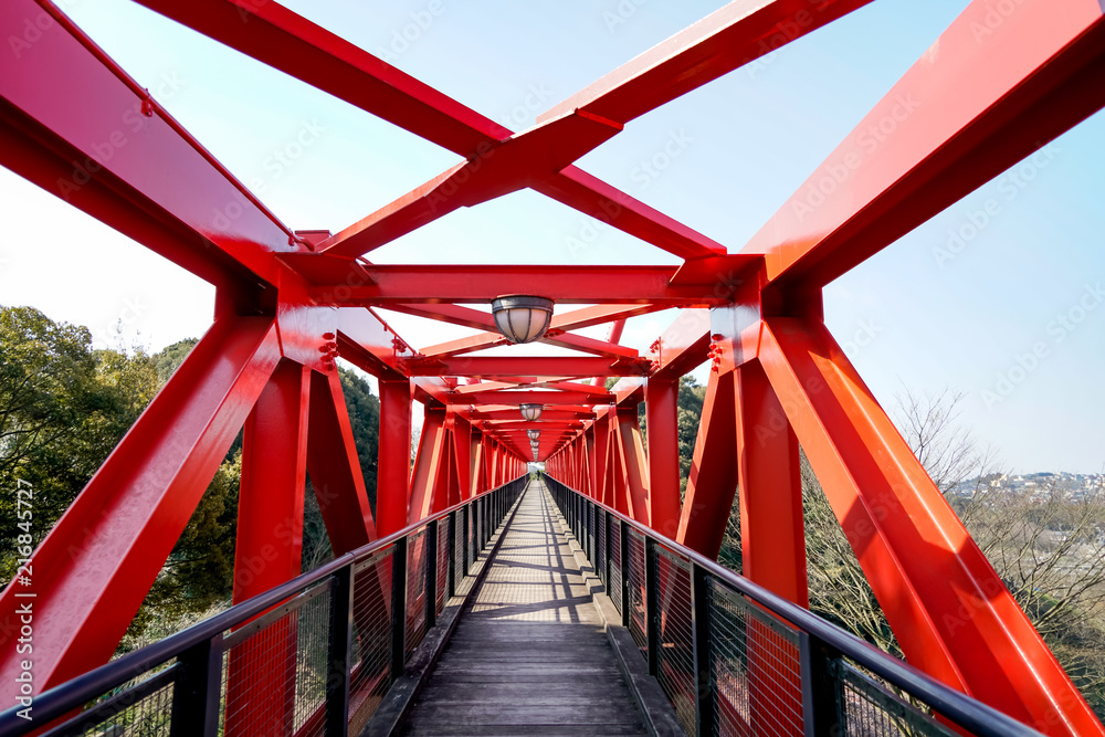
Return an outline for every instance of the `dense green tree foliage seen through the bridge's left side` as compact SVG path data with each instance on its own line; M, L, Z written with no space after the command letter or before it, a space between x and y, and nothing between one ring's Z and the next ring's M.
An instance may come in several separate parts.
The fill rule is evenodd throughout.
M31 307L0 307L0 488L19 480L35 493L38 545L88 483L157 391L197 345L194 338L150 356L141 348L95 350L87 328L54 323ZM379 400L364 379L339 371L365 473L376 499ZM229 604L233 588L241 433L219 466L158 575L127 638L126 651ZM314 493L304 519L304 566L333 555ZM17 569L20 530L14 494L0 497L0 579Z

